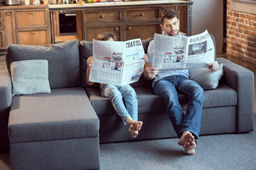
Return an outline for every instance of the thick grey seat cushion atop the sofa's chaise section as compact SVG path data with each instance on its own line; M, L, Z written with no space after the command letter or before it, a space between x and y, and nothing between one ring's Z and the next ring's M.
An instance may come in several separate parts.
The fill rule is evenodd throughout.
M99 128L97 115L82 87L13 97L9 116L11 143L97 137Z

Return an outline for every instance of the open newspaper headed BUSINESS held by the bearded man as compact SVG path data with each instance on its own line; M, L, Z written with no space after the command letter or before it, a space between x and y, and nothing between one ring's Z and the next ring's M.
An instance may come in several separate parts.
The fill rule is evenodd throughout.
M155 33L153 56L161 70L202 68L214 61L215 46L207 30L185 38Z

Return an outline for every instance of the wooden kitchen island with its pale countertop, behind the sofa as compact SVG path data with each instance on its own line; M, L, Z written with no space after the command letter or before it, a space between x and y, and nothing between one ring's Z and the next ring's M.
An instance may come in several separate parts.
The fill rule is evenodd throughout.
M77 35L60 36L51 33L52 42L63 40L92 41L98 34L109 31L117 36L117 40L134 38L154 38L154 33L162 33L159 22L161 8L174 8L180 17L181 32L191 35L192 1L122 1L117 4L88 3L86 6L55 6L47 5L53 15L56 11L76 11ZM58 23L55 18L51 22Z

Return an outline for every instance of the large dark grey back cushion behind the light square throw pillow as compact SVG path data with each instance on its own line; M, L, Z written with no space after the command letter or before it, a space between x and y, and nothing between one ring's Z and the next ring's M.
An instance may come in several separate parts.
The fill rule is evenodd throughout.
M9 45L6 66L21 60L48 60L50 88L80 86L78 41L70 40L49 46Z

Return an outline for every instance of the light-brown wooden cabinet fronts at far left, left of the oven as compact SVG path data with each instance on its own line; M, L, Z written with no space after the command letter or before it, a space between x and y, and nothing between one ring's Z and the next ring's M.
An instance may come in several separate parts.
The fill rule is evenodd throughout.
M50 44L49 16L44 5L0 8L0 50L9 44Z

